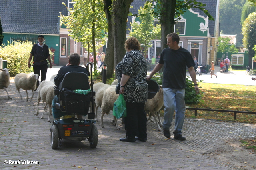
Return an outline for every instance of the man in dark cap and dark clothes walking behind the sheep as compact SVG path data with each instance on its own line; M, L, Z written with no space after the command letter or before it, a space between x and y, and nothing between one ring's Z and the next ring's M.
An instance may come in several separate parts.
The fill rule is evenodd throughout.
M50 68L52 68L52 62L50 58L49 48L46 44L44 44L44 36L39 35L37 37L37 40L38 40L38 43L33 45L32 50L30 52L30 56L28 58L28 68L31 67L30 62L32 60L32 57L34 56L33 65L32 65L34 74L38 74L39 76L41 76L41 82L42 82L46 79L46 73L48 69L47 59L50 63ZM38 86L39 86L39 80L36 83L36 89L38 88Z

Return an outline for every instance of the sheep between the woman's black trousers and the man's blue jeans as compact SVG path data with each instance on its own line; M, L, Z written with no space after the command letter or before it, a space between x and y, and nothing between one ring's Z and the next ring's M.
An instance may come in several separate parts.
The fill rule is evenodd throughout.
M163 126L161 120L160 120L160 114L159 114L159 110L164 106L164 91L162 86L159 86L159 91L156 93L156 96L154 96L154 98L152 99L148 99L148 102L145 103L144 106L144 110L146 113L148 113L148 120L151 120L151 116L154 117L155 121L156 121L156 125L158 127L158 131L162 131L160 127ZM158 120L159 120L159 124L158 121L156 119L156 114L158 116Z

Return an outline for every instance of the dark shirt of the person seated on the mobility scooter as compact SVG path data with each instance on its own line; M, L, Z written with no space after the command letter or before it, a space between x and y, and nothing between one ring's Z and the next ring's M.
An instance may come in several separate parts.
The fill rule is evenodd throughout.
M88 71L84 67L81 67L81 66L78 66L78 65L63 66L63 67L60 68L57 76L54 77L54 84L59 87L60 83L62 82L62 80L64 78L64 76L68 72L84 72L85 74L87 74L89 76Z

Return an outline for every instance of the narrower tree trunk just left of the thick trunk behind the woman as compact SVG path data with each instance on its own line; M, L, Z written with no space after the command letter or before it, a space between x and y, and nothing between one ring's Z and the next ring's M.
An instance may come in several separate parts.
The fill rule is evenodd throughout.
M114 75L114 36L112 15L110 9L112 8L112 0L104 0L104 11L108 20L108 42L106 49L106 57L104 64L107 64L107 79L112 78Z

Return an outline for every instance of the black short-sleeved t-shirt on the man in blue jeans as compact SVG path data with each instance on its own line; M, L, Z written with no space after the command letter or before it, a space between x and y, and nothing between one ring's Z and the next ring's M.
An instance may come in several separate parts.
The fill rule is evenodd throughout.
M178 50L165 48L159 60L164 64L163 88L183 89L186 87L186 67L195 65L194 60L185 48Z

